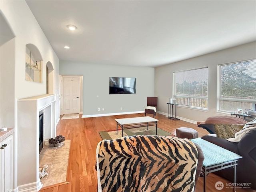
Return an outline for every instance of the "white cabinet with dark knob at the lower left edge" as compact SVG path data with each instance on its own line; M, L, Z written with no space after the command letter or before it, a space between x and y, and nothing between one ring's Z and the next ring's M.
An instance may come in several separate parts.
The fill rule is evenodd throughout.
M0 142L0 191L12 191L12 135Z

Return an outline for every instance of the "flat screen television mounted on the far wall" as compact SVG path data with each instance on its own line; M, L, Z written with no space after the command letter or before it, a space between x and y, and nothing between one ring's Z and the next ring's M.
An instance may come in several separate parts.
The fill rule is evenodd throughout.
M109 94L135 94L136 78L110 77Z

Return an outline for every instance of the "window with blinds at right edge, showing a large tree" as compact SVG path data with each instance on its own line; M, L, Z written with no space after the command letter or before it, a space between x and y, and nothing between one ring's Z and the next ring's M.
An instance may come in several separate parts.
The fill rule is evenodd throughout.
M256 60L223 64L218 68L218 111L255 110Z

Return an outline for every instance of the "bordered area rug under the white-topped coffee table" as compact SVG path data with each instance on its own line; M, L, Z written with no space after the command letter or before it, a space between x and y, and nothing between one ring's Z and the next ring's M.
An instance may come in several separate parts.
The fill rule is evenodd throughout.
M118 139L122 137L122 129L118 129L118 134L116 134L116 130L110 131L99 131L99 134L102 139ZM148 126L147 127L139 127L139 128L125 128L124 129L124 137L132 136L132 135L156 135L156 127ZM157 128L157 135L161 136L175 136L167 131L164 131L160 128Z

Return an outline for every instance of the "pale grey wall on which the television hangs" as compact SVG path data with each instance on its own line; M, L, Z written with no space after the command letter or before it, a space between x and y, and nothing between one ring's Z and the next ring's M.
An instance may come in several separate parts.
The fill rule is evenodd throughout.
M146 106L146 97L154 96L154 68L60 61L59 73L83 76L83 115L86 117L141 112ZM110 95L109 77L135 77L136 94Z

